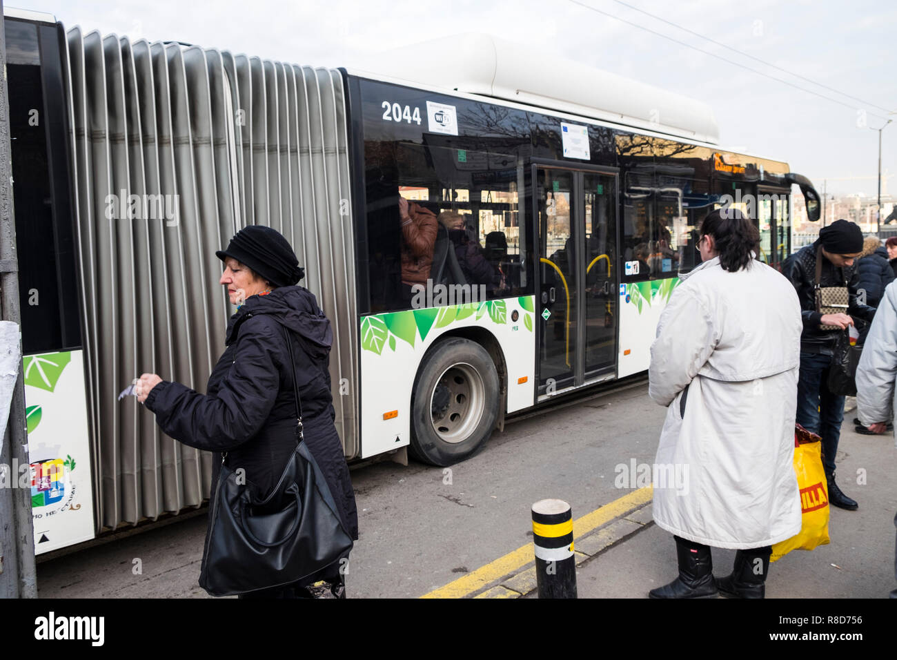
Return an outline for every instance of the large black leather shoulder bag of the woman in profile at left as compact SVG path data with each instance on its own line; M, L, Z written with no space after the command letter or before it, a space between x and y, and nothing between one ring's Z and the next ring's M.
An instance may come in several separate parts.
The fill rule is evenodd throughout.
M213 596L247 594L289 585L348 557L345 531L318 463L302 442L302 408L292 342L283 329L293 365L296 450L274 490L260 497L240 483L222 457L205 537L199 585Z

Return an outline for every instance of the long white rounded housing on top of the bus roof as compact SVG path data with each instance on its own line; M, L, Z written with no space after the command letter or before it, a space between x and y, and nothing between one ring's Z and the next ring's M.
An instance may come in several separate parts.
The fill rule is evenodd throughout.
M710 145L719 141L717 121L706 103L486 34L394 48L366 56L353 69Z

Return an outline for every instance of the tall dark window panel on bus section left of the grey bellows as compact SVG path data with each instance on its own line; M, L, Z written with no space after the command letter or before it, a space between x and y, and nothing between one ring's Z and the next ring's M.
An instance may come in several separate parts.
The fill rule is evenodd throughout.
M60 26L6 19L22 350L81 347Z

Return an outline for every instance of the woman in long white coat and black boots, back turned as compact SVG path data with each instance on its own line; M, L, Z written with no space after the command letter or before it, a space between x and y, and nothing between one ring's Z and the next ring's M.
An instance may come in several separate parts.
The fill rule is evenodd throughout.
M668 410L654 520L674 534L679 576L652 598L762 598L771 545L800 531L792 461L803 324L794 286L754 259L758 242L736 209L710 213L702 263L680 276L658 321L649 395ZM714 579L710 546L738 550L730 576Z

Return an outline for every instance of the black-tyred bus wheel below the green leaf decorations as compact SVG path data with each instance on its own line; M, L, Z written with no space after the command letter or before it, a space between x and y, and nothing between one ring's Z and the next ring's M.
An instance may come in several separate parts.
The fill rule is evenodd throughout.
M411 451L433 465L473 455L498 416L499 375L485 348L453 338L423 359L414 382Z

